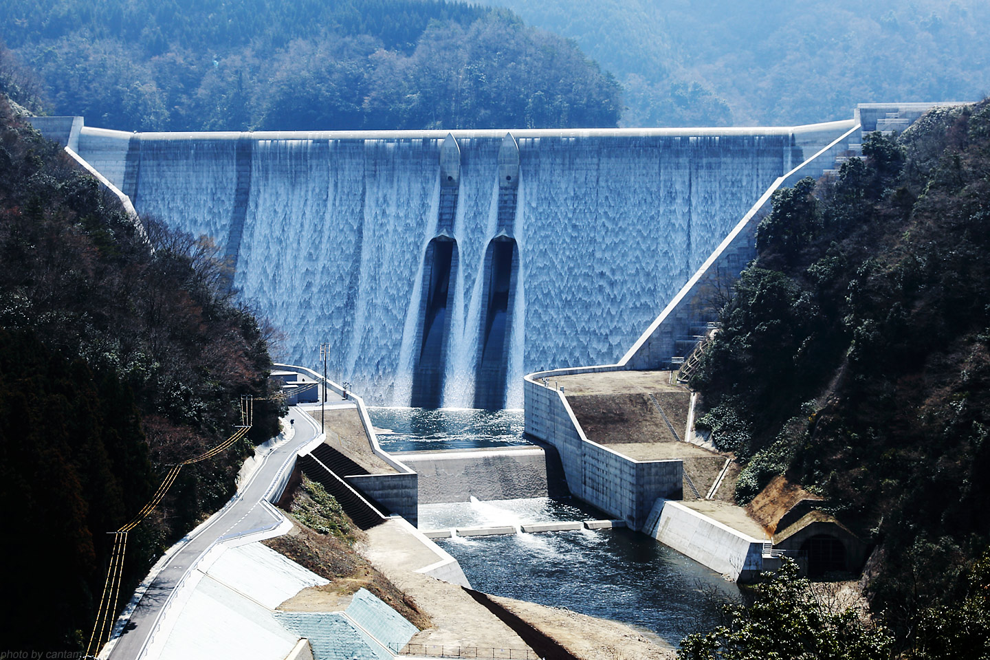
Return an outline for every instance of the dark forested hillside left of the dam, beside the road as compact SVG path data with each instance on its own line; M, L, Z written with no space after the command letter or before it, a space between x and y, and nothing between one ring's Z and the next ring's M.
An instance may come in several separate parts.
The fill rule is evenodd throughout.
M232 434L242 395L267 396L272 332L228 292L216 248L154 224L148 235L0 96L4 652L84 649L106 532L142 509L164 466ZM259 401L247 439L182 470L130 534L124 594L226 503L279 408Z

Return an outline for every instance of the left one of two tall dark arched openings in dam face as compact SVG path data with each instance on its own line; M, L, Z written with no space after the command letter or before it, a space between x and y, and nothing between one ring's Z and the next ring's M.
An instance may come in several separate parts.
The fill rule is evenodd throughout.
M427 245L420 304L420 339L413 371L413 408L440 408L444 394L447 337L450 334L450 305L457 279L457 243L438 236Z

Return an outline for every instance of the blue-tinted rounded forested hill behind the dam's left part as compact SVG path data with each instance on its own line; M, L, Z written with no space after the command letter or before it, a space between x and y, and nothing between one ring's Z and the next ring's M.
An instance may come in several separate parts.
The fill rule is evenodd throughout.
M572 42L462 2L7 0L0 40L49 114L120 130L615 127L622 110Z

